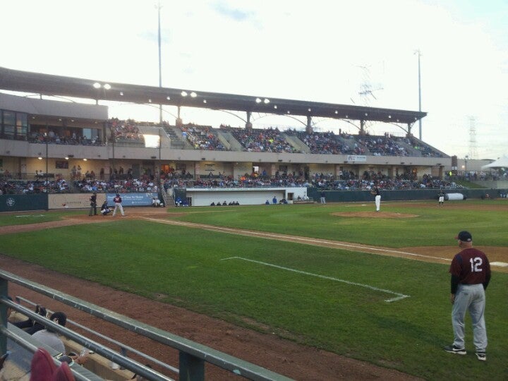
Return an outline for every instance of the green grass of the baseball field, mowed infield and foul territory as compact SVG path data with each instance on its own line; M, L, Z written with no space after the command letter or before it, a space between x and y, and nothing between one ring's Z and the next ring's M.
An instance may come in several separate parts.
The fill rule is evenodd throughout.
M478 207L462 210L460 202ZM506 200L421 205L383 202L383 211L418 215L398 219L332 215L372 211L373 202L191 207L170 209L169 216L184 214L169 218L393 248L455 246L456 233L467 229L478 246L508 246ZM69 213L77 212L47 218ZM33 222L46 218L40 214ZM12 215L0 215L0 226L13 223ZM0 240L1 253L12 257L147 298L166 295L167 303L427 380L508 379L506 272L494 272L487 290L484 363L473 354L469 317L468 355L442 350L453 339L448 265L134 219ZM397 295L409 297L387 302Z

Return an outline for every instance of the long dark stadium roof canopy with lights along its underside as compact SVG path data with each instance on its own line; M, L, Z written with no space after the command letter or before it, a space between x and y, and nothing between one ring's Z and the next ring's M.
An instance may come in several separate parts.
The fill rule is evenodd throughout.
M104 87L106 84L108 86ZM102 80L32 73L1 67L0 90L136 104L167 104L177 107L245 111L247 113L258 112L263 114L289 114L292 116L404 123L408 126L427 115L426 112L421 111L380 109L126 83L106 83Z

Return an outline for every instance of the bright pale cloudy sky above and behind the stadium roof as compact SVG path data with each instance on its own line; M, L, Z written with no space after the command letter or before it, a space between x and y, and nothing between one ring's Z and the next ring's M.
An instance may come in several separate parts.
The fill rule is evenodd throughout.
M411 111L421 99L426 143L459 158L508 155L508 0L17 0L0 11L5 68L158 86L160 16L163 87ZM158 107L108 105L110 117L159 120ZM181 110L184 123L213 127L245 126L237 115ZM313 123L358 133L359 123Z

